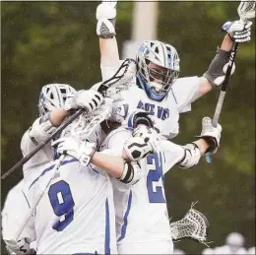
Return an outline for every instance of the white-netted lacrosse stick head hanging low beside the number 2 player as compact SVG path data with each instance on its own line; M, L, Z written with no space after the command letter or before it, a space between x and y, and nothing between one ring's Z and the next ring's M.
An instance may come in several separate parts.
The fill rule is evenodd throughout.
M196 203L192 203L190 210L183 219L170 223L172 240L190 238L206 244L209 222L206 217L193 209Z

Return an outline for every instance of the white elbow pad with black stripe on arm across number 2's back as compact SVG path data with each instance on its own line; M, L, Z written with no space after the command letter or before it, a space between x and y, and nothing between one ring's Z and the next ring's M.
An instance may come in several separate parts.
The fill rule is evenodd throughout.
M137 162L125 161L122 176L117 178L125 184L133 185L141 178L141 166Z

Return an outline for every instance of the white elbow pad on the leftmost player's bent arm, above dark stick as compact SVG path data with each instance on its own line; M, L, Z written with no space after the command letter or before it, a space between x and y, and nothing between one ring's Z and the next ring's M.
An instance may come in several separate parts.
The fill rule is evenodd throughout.
M57 127L54 127L49 120L49 114L45 114L33 122L29 130L29 136L32 143L38 145L38 143L47 139L56 129Z

